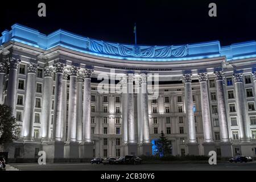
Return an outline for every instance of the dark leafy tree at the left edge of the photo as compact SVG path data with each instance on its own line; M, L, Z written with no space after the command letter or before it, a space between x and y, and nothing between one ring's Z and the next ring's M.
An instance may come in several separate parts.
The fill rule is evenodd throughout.
M0 145L18 139L19 127L10 106L0 104Z

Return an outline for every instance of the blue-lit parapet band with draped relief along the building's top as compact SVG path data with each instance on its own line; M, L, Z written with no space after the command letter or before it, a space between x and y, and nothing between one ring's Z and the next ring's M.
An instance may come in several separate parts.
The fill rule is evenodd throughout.
M204 42L181 46L142 46L104 42L57 30L44 35L38 30L14 24L0 37L0 46L15 41L28 46L49 50L56 46L94 56L134 61L183 61L225 56L226 60L256 57L256 42L243 42L221 47L220 42Z

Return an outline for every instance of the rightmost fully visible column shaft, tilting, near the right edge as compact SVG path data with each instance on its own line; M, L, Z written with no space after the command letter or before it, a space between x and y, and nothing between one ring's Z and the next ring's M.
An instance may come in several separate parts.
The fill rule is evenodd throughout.
M250 142L249 123L246 121L246 97L242 73L233 75L236 94L236 111L241 142Z

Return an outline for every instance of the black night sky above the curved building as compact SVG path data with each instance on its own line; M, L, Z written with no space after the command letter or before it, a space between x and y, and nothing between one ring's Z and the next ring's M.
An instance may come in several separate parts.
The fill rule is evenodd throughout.
M38 3L47 6L39 18ZM210 2L217 17L208 16ZM221 46L256 40L256 1L5 1L0 31L14 23L49 34L59 28L90 38L138 44L187 44L220 40Z

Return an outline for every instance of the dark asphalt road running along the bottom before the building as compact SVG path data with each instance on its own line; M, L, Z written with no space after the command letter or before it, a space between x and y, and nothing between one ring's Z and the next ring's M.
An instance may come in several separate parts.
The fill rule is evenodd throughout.
M209 164L103 165L90 163L10 164L24 171L256 171L256 162Z

